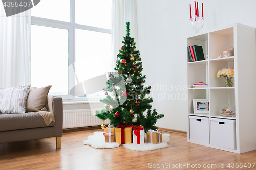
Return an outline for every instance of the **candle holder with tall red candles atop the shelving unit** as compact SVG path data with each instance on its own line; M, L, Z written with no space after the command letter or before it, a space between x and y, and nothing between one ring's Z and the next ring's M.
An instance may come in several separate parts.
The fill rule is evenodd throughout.
M192 14L191 14L191 4L189 4L189 8L190 8L190 25L191 27L196 30L196 33L199 32L199 30L204 26L204 11L203 11L203 3L202 3L202 17L199 17L199 10L198 10L198 2L196 5L196 1L195 1L195 16L194 19L192 18Z

